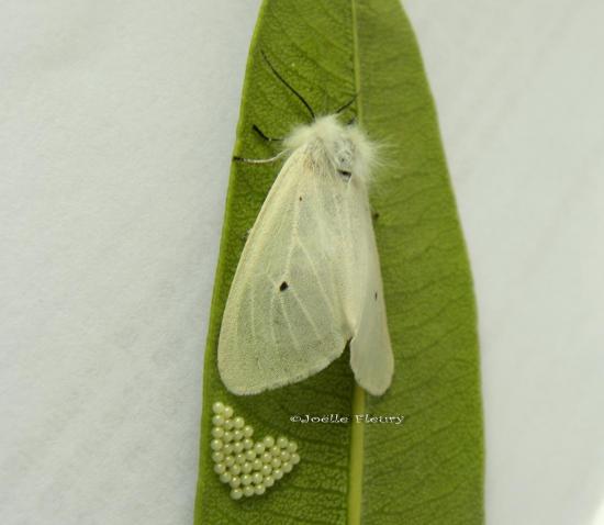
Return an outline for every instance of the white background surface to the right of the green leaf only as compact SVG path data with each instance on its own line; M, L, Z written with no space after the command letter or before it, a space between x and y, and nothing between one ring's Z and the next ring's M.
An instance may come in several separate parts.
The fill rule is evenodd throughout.
M604 4L406 2L479 304L492 525L602 525Z

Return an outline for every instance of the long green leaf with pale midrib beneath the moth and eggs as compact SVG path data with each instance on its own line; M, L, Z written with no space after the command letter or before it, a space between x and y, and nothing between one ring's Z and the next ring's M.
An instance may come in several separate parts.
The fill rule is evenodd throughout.
M371 196L379 213L393 384L356 387L348 353L300 383L230 394L216 368L221 317L244 246L279 166L234 163L205 353L197 524L479 524L483 522L482 409L472 281L432 96L399 0L265 0L251 43L235 155L266 158L272 136L355 93L357 119L384 144ZM351 113L349 113L351 114ZM232 501L213 472L211 406L231 404L256 436L283 434L300 465L262 496ZM405 416L394 424L301 424L294 414Z

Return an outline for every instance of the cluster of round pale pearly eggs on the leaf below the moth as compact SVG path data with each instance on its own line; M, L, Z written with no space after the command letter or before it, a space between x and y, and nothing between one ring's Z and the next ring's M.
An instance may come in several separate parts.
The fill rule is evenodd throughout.
M231 498L261 495L300 462L298 445L286 437L251 439L254 428L233 409L216 401L212 405L212 459L214 472L231 487Z

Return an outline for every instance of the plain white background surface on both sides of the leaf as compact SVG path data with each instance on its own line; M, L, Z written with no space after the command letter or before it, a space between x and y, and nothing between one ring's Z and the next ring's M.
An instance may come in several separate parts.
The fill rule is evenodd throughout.
M601 525L604 3L405 7L476 278L488 523ZM0 0L2 524L191 523L257 9Z

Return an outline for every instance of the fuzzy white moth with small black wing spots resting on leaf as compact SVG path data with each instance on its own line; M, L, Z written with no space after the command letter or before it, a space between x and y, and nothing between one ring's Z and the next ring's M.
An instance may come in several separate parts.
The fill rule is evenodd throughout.
M368 183L372 144L336 115L295 129L246 241L219 339L235 394L301 381L350 345L357 382L374 395L394 360Z

